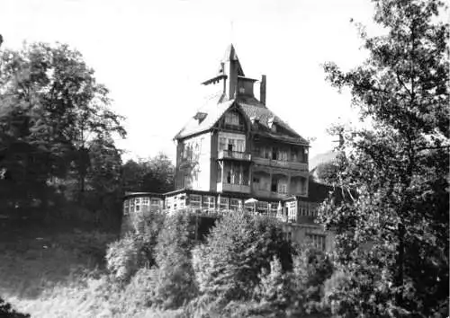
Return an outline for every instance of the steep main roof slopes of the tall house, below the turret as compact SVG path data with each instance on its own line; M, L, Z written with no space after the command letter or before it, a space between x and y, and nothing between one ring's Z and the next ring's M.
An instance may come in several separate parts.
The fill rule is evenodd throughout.
M276 116L272 110L267 109L264 104L257 101L255 97L239 96L237 100L223 101L223 95L221 93L211 97L201 109L197 110L197 113L202 112L205 114L203 115L203 119L195 119L196 116L193 116L184 125L184 128L176 134L175 139L190 137L210 130L233 104L237 105L238 110L241 110L247 120L257 119L257 129L254 130L254 133L257 135L294 144L309 145L306 139L297 134L293 128ZM270 120L273 120L275 125L282 129L273 131L269 127Z

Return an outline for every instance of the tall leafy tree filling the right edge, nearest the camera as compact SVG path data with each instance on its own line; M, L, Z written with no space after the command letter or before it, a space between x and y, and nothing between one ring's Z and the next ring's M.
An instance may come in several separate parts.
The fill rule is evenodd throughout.
M340 147L336 183L357 198L329 200L320 218L337 231L338 266L355 278L347 308L446 316L439 311L448 296L448 25L437 0L374 4L386 33L369 37L360 28L370 57L347 73L324 66L371 128L347 133Z

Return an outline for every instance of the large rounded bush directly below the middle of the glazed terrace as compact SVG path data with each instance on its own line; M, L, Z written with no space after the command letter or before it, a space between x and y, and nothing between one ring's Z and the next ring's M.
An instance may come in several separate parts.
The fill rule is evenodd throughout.
M291 266L290 243L272 218L230 213L223 216L193 250L193 269L202 297L227 304L253 296L261 269L278 257Z

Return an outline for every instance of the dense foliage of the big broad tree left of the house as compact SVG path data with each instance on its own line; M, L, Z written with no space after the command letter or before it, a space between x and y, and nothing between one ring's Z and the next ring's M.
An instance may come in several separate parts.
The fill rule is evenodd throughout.
M95 209L103 208L120 190L120 153L112 136L124 137L125 130L94 70L63 44L4 49L0 61L4 204L47 208L63 194L83 201L92 189L103 199Z

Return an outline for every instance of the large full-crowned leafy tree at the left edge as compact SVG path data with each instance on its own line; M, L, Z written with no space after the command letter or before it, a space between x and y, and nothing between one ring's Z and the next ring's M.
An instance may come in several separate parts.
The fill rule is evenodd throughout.
M25 45L4 50L1 60L2 165L12 171L14 185L36 197L34 192L49 188L48 181L72 174L83 192L92 141L125 136L121 116L109 107L108 90L96 83L81 53L67 45ZM19 160L18 146L24 149Z

